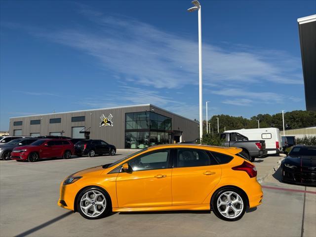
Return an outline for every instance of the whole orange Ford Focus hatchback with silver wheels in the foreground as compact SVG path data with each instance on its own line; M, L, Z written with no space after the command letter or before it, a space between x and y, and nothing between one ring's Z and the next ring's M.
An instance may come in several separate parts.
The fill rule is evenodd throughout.
M87 219L110 212L213 210L226 221L261 204L255 166L240 148L161 145L79 171L60 186L58 205Z

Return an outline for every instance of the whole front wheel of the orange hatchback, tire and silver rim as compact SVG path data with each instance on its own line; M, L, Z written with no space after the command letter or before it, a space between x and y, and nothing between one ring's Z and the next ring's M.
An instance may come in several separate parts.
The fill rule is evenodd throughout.
M86 188L79 194L77 210L86 219L105 217L112 210L110 197L100 188Z

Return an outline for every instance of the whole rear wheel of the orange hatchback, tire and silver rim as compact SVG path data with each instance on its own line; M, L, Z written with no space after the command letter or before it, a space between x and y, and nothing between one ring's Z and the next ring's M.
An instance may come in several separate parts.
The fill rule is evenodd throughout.
M212 210L225 221L237 221L246 212L246 198L235 188L224 188L217 191L212 198Z

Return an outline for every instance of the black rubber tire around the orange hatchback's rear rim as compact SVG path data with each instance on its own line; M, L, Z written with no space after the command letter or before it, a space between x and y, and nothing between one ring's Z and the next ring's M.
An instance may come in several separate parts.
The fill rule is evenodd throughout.
M240 198L241 198L241 200L242 200L242 208L241 208L241 204L240 203L238 203L238 204L234 204L234 205L240 205L239 207L240 207L240 211L239 212L237 212L238 213L238 215L237 215L237 217L225 217L224 216L224 214L221 214L221 212L220 211L223 211L222 209L223 209L223 207L224 208L229 208L228 206L232 206L232 203L228 203L227 205L226 205L226 207L225 207L225 205L221 205L221 206L219 206L219 207L217 207L217 203L219 202L219 198L221 197L221 195L223 195L224 193L227 193L227 192L234 192L235 194L237 194ZM222 196L223 197L223 196ZM232 197L232 196L231 196ZM234 195L234 197L235 197L235 195ZM236 196L237 197L237 196ZM222 199L221 199L222 200ZM229 205L230 204L230 205ZM214 212L214 214L218 217L218 218L220 218L220 219L222 219L222 220L224 220L224 221L237 221L237 220L240 220L241 218L242 218L242 216L245 214L245 212L246 212L246 209L247 209L247 205L248 205L248 203L247 203L247 198L246 197L244 197L244 194L240 191L240 190L238 190L238 189L236 189L236 188L234 188L234 187L227 187L227 188L223 188L223 189L219 189L218 191L216 191L214 194L213 194L213 196L212 196L212 198L211 198L211 207L212 207L212 210L213 210L213 212ZM236 206L235 206L236 207ZM228 211L228 215L230 215L230 212L234 212L233 211L233 209L229 209L229 211ZM233 214L231 214L231 215L233 215Z

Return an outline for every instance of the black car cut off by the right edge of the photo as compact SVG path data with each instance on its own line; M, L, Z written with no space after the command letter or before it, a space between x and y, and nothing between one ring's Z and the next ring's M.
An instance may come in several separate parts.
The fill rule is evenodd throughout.
M316 146L294 146L281 162L283 182L316 185Z

